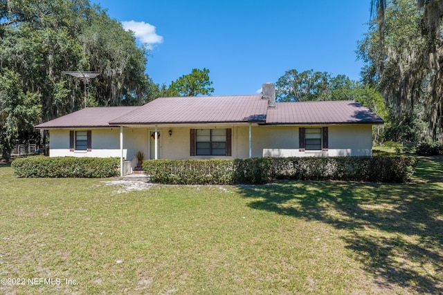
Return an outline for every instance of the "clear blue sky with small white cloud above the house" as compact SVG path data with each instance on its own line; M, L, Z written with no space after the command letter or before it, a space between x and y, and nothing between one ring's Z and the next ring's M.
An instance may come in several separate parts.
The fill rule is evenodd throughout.
M157 84L208 68L213 95L254 94L286 70L360 79L370 0L95 0L150 44Z

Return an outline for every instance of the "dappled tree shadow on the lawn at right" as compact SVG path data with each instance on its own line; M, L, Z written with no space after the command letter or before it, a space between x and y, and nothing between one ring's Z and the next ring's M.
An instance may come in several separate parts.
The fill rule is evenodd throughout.
M417 170L427 182L280 182L240 190L253 209L345 230L352 257L381 284L442 294L443 162L428 161Z

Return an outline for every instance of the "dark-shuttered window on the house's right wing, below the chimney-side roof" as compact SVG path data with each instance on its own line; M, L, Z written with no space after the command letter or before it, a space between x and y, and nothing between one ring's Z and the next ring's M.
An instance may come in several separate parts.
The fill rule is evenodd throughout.
M327 151L328 128L305 128L298 131L299 151Z

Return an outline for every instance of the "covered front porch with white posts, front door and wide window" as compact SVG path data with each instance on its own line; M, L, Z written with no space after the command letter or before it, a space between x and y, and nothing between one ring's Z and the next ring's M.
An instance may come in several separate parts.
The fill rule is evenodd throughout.
M120 126L120 176L136 171L136 153L143 160L261 157L253 153L252 133L257 124ZM208 133L208 134L206 134Z

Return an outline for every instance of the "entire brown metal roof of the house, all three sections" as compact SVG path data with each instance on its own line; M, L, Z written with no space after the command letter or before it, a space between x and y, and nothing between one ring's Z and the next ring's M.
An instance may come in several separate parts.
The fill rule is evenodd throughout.
M84 108L35 126L37 129L119 125L204 124L383 124L381 117L354 101L278 102L262 95L161 97L144 106Z

